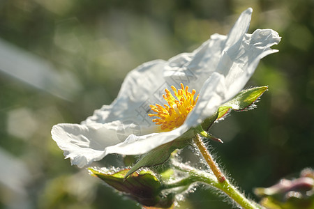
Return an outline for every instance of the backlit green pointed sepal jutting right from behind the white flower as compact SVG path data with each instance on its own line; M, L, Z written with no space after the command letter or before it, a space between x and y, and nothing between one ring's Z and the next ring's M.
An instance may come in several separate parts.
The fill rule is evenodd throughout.
M238 93L232 100L221 105L218 109L218 117L223 118L230 110L241 111L248 109L260 96L267 91L267 86L249 88Z

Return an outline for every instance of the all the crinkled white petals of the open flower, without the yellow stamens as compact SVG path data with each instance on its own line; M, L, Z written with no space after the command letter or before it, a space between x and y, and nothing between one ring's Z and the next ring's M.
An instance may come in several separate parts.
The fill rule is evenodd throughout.
M80 125L54 125L52 138L66 158L84 167L110 153L147 153L212 116L244 88L260 59L277 52L270 48L281 40L276 31L257 29L253 34L246 33L251 13L251 8L245 10L227 36L214 34L192 53L135 68L126 76L117 99ZM160 132L160 126L148 116L154 114L149 104L165 103L165 88L179 87L180 83L195 89L200 95L198 101L182 125Z

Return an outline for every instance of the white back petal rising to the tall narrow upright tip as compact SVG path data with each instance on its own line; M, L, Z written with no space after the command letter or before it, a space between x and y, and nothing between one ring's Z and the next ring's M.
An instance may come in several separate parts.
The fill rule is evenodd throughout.
M165 66L165 80L174 86L183 84L200 91L204 82L216 71L223 51L241 42L248 31L252 8L241 13L228 36L214 34L192 53L174 56Z

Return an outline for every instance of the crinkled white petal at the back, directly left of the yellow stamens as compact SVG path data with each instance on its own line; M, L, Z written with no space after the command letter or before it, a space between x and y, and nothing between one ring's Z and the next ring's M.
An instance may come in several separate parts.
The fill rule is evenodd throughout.
M117 99L110 106L103 106L83 123L109 123L112 121L134 121L139 125L150 126L154 123L147 116L148 102L154 104L160 93L157 88L165 84L160 73L165 61L156 60L144 63L128 73L121 86ZM164 88L163 88L164 89ZM147 120L149 118L149 120Z

